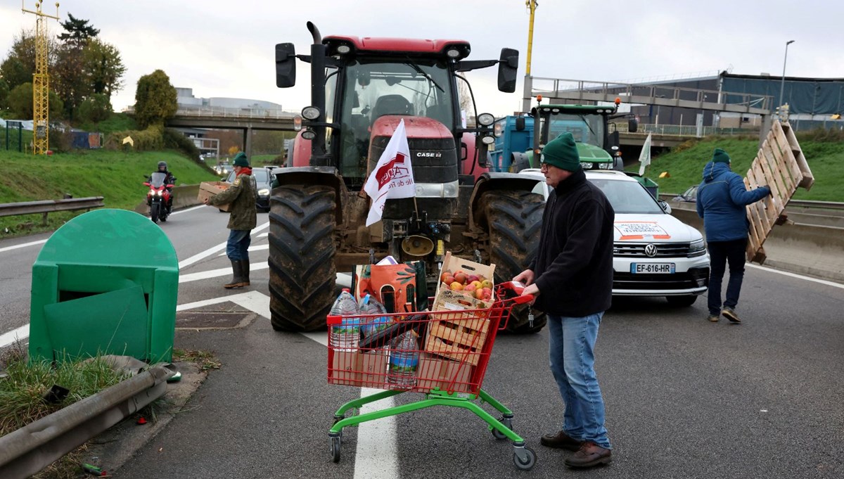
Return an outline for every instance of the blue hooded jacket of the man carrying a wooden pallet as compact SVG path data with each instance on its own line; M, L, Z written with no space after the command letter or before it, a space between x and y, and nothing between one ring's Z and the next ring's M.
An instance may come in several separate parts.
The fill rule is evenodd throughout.
M697 215L703 218L706 241L747 238L750 223L745 207L769 194L771 188L767 186L747 191L744 180L730 170L729 164L707 163L697 188Z

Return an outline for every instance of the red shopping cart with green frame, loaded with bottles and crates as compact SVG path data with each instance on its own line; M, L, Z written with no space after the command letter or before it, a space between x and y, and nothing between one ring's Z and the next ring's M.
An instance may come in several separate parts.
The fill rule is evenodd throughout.
M517 468L524 471L533 468L536 453L513 432L513 413L480 387L497 331L506 327L515 304L533 299L529 295L519 296L521 290L518 283L500 285L495 289L497 300L487 309L461 309L466 304L452 302L446 304L452 310L329 315L328 382L385 390L349 401L334 413L334 424L328 432L332 460L340 460L343 428L431 406L452 406L468 409L483 419L496 439L510 439ZM467 304L477 303L467 301ZM333 330L344 324L359 325L365 337L356 345L346 341L337 335L338 330ZM415 371L412 358L418 358ZM358 413L365 404L405 392L422 393L425 399ZM500 419L484 411L475 400L481 405L490 404L500 412ZM349 411L352 415L345 417Z

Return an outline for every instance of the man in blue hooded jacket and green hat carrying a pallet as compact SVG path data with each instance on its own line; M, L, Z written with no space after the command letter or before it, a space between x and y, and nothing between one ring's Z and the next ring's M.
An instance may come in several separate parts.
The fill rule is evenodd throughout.
M744 279L744 251L750 228L746 207L770 194L768 186L747 191L742 177L730 170L730 156L721 148L715 148L712 160L703 167L703 181L697 188L697 214L703 218L709 249L708 319L712 322L721 315L735 324L741 322L735 308ZM730 279L722 304L721 283L727 264Z

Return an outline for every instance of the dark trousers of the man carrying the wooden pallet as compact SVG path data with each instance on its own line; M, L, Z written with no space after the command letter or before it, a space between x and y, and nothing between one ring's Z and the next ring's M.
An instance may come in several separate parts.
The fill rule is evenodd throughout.
M744 250L747 239L732 241L710 241L709 249L709 293L707 293L707 307L709 314L721 315L721 283L724 270L730 266L730 279L727 283L727 298L724 306L735 308L738 304L738 293L741 293L741 283L744 281Z

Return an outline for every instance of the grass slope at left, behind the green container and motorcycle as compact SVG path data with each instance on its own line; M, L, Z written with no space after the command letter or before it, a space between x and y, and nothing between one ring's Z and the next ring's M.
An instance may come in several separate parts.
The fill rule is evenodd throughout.
M122 153L105 149L31 155L0 151L0 203L103 196L106 207L133 209L144 201L143 175L166 161L176 185L196 185L219 178L204 164L175 151ZM0 238L57 229L81 212L50 213L46 227L41 215L0 218Z

